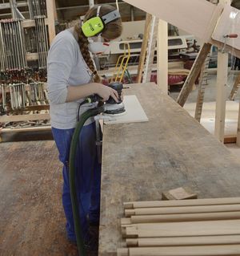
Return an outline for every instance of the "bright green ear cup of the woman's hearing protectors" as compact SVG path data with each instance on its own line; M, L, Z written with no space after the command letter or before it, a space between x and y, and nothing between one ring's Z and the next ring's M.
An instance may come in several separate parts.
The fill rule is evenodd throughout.
M90 18L82 24L82 32L87 38L98 35L103 29L104 24L100 17Z

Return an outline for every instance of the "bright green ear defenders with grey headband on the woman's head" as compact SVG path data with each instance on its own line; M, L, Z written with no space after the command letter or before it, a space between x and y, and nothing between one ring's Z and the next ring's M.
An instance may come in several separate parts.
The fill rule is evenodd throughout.
M87 38L100 34L107 23L121 18L118 10L113 10L100 18L100 8L101 6L98 6L97 17L90 18L82 24L82 32Z

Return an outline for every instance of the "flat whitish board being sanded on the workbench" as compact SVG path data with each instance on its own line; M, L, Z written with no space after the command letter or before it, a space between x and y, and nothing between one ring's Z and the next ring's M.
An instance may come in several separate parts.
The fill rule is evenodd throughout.
M123 104L126 113L122 116L110 116L110 120L104 120L104 124L127 124L136 122L147 122L148 118L136 95L124 96ZM108 116L106 114L106 116Z

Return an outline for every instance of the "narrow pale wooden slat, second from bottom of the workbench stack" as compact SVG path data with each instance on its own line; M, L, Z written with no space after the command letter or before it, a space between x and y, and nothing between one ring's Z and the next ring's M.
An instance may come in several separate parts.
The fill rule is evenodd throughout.
M150 246L206 246L239 244L240 235L226 236L197 236L179 238L127 238L127 246L150 247ZM159 248L160 249L160 248Z

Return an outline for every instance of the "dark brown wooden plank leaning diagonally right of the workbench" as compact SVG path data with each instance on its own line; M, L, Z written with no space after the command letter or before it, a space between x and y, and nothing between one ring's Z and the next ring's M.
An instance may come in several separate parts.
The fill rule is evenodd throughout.
M187 76L185 83L183 84L182 90L178 95L177 102L180 106L184 106L187 97L190 95L194 87L194 83L201 71L202 65L205 62L206 56L210 52L211 44L204 43L201 50L198 53L198 57L194 61L194 65L191 68L190 75Z

